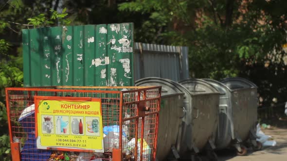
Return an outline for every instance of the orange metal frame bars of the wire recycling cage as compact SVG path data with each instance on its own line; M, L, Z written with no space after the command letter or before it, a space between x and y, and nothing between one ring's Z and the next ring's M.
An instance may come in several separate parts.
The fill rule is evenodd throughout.
M70 89L69 89L70 88ZM73 89L71 89L73 88ZM76 88L76 89L75 89ZM129 88L131 90L128 91L105 91L105 90L98 90L98 89L123 89L123 88ZM97 89L97 90L89 90L89 89ZM159 89L159 97L156 98L148 98L148 100L146 99L146 90L151 90L151 89ZM141 100L141 91L140 90L144 90L144 94L143 94L143 100ZM159 110L160 110L160 105L161 105L161 87L157 87L157 86L150 86L150 87L144 87L144 86L127 86L127 87L103 87L103 86L99 86L99 87L85 87L85 86L51 86L51 87L27 87L27 88L6 88L5 92L6 92L6 101L9 100L9 92L8 91L39 91L39 92L74 92L74 93L107 93L107 94L120 94L120 112L119 112L119 133L122 133L122 123L124 121L127 120L131 120L131 119L136 119L135 120L135 141L137 143L138 141L138 128L139 128L139 118L142 117L142 125L141 125L141 152L140 152L140 161L143 160L143 130L144 130L144 117L147 115L151 115L151 114L156 114L156 124L155 124L155 142L154 142L154 147L153 147L153 160L155 160L156 158L156 149L157 149L157 137L158 137L158 123L159 123ZM128 119L124 119L122 116L122 108L123 105L128 105L129 103L124 103L123 102L123 94L126 93L130 93L130 92L138 92L138 99L137 101L134 101L133 104L137 104L138 107L140 107L140 102L144 102L145 101L150 101L150 100L159 100L157 102L157 111L156 112L152 112L152 113L141 113L140 110L136 111L136 116L133 117L129 117ZM35 113L37 113L37 107L38 107L38 103L40 100L43 99L54 99L54 100L74 100L74 101L78 101L78 100L83 100L83 101L99 101L99 98L91 98L91 97L43 97L43 96L35 96ZM9 107L9 103L7 102L7 113L8 113L8 120L11 120L10 118L10 107ZM101 114L102 114L102 107L101 107ZM36 124L37 124L37 117L36 117ZM20 150L19 150L19 143L13 143L13 138L12 138L12 128L11 128L11 123L10 121L8 121L8 126L9 126L9 132L10 132L10 143L11 143L11 152L12 152L12 159L13 161L20 161ZM37 126L35 126L37 127ZM37 130L36 130L36 136L37 136ZM137 149L138 144L135 144L135 149ZM123 159L123 155L122 155L122 135L119 136L119 149L113 149L112 151L112 158L113 161L122 161ZM64 151L71 151L71 149L66 149L66 148L57 148L57 150L64 150ZM77 151L77 150L73 150L73 151ZM83 151L83 150L81 150ZM88 151L90 152L90 151ZM137 160L137 152L135 153L135 160Z

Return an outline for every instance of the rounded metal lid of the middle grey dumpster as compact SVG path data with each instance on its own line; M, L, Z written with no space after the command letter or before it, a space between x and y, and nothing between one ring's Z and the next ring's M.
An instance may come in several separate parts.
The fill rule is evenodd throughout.
M213 85L202 79L187 79L179 83L185 86L192 95L208 93L219 94L219 91Z

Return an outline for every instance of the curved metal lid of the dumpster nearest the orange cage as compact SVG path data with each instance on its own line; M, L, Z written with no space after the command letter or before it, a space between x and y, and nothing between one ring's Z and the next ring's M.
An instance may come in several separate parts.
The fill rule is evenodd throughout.
M171 95L171 94L186 94L189 95L190 93L188 90L181 84L176 81L163 79L159 77L147 77L140 79L135 82L136 86L161 86L161 96L164 95Z

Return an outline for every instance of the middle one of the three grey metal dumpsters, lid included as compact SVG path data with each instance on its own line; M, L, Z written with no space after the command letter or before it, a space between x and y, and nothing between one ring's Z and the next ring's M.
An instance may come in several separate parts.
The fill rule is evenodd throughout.
M192 134L192 137L187 136L186 139L187 143L192 142L193 146L188 148L198 152L209 143L210 148L215 149L219 92L208 82L200 79L188 79L179 83L188 89L191 97L189 109L192 111L190 115L192 125L187 128L186 134ZM190 141L190 138L193 140Z

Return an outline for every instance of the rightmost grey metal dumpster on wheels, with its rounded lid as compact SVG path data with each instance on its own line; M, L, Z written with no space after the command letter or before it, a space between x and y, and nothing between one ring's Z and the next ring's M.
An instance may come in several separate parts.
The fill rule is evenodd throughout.
M243 78L204 80L220 91L216 148L235 146L238 155L245 155L242 142L249 138L255 148L260 148L256 143L257 86Z

